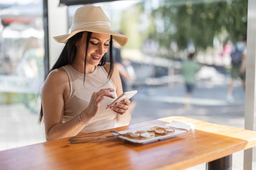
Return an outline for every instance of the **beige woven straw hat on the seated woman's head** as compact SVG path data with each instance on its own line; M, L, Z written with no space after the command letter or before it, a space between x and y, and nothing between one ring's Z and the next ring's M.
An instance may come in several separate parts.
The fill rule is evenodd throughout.
M82 31L112 35L113 40L121 46L124 46L128 41L125 35L111 31L110 21L101 7L92 5L76 9L71 25L71 33L56 36L54 40L59 43L66 43L68 39Z

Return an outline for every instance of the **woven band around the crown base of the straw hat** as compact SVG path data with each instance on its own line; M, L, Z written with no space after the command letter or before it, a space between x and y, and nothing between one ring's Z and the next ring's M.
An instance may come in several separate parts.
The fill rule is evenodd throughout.
M96 22L80 22L80 23L73 23L71 26L71 32L75 30L83 30L91 26L107 26L109 30L111 30L110 22L108 21L96 21Z

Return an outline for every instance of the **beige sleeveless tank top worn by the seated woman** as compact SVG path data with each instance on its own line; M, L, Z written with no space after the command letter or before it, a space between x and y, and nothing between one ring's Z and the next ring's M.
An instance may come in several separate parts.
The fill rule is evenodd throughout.
M77 116L81 111L88 107L92 93L102 88L114 88L115 85L110 79L103 66L96 66L94 72L85 75L76 71L71 65L62 67L70 81L70 95L65 101L63 123ZM116 92L112 95L117 97ZM90 119L88 126L85 126L81 132L90 133L99 130L105 130L116 127L117 113L112 110L106 110L108 104L114 99L105 97L101 102L99 112Z

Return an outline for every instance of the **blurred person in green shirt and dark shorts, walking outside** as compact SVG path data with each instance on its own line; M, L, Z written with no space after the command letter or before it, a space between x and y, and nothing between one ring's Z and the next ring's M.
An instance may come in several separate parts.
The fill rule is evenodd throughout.
M189 53L188 60L185 60L182 63L181 73L184 77L184 84L186 88L185 94L185 108L191 107L191 93L195 89L195 74L200 70L201 65L198 62L195 62L195 53Z

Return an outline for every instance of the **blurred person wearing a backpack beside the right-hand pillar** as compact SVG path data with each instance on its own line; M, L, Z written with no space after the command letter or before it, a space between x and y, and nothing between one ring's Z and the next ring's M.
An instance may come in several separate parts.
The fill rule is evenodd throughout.
M232 95L234 83L236 82L236 79L239 77L241 78L243 82L243 89L245 91L245 66L246 66L246 57L247 57L247 37L246 35L243 36L243 41L236 42L234 46L232 46L231 49L231 82L228 86L227 91L227 102L234 102L234 97Z

